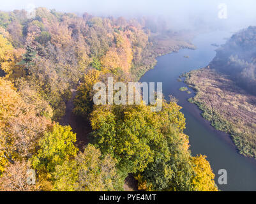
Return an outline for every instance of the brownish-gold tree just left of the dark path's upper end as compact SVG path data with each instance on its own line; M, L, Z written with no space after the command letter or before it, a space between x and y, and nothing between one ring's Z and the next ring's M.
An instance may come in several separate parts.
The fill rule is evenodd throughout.
M52 107L55 120L64 115L65 100L70 97L70 82L66 71L63 66L45 57L36 57L27 67L29 75L26 80L33 82L40 97Z

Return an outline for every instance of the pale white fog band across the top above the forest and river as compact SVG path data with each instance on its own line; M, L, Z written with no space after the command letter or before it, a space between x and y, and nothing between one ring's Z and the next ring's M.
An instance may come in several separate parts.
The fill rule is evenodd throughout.
M220 4L227 6L227 18L219 17ZM31 5L78 15L157 17L172 29L234 30L256 25L255 0L9 0L1 3L0 10L29 10Z

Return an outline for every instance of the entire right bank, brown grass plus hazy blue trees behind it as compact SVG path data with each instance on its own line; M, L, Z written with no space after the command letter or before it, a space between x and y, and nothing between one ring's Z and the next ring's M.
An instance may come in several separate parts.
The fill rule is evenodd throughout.
M220 131L230 133L239 152L256 158L256 27L234 34L207 68L186 73L197 91L190 102Z

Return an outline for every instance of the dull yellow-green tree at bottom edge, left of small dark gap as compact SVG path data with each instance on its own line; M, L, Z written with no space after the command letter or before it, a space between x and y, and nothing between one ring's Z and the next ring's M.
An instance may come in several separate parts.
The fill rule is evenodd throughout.
M120 191L123 180L116 170L116 160L102 158L100 150L87 145L72 161L56 166L54 191Z

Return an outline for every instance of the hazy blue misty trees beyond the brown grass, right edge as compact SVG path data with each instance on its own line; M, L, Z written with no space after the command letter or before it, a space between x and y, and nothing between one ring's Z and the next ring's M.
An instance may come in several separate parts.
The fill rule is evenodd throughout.
M234 34L218 48L211 66L256 95L256 27L250 26Z

